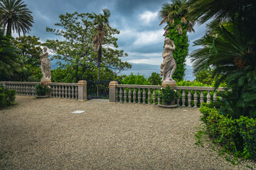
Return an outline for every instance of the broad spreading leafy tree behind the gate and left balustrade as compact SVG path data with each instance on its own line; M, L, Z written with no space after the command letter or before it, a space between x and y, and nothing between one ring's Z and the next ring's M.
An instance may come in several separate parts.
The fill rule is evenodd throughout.
M54 56L55 59L64 60L67 63L63 64L63 67L71 66L75 69L75 82L78 82L80 80L80 68L82 68L82 75L85 75L87 70L94 67L92 65L99 67L97 65L97 52L93 50L94 26L92 13L65 13L60 15L59 18L60 22L55 23L55 26L59 26L60 29L46 28L46 30L48 33L61 36L65 40L46 40L44 45L58 54ZM105 34L102 44L104 46L102 47L100 67L119 71L131 68L131 64L122 62L120 59L127 56L123 50L110 48L110 46L118 47L117 38L114 38L113 35L118 34L119 30L114 28L112 30L107 29L107 27L103 27L103 31L107 34Z

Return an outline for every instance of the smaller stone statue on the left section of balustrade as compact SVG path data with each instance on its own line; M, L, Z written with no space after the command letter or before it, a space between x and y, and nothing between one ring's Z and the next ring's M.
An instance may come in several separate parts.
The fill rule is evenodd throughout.
M48 59L48 52L47 47L43 47L43 54L40 55L41 57L41 72L43 74L43 80L50 80L51 74L50 74L50 60Z

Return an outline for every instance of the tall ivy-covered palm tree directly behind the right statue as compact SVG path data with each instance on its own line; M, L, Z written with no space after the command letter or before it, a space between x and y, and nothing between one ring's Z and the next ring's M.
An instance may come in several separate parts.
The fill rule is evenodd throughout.
M171 0L170 3L163 4L159 16L163 19L160 23L166 23L164 36L174 40L176 50L174 59L177 68L174 72L174 79L181 80L185 76L185 62L188 56L188 36L187 32L193 30L193 21L187 18L188 8L185 8L186 0Z

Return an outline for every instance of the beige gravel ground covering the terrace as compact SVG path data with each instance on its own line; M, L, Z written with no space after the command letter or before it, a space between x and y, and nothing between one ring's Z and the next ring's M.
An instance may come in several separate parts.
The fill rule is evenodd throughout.
M247 169L195 145L198 108L17 96L0 111L0 169ZM73 111L85 111L72 114Z

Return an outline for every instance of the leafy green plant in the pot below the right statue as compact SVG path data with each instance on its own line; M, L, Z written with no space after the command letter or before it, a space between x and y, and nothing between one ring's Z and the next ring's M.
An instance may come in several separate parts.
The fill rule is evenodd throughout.
M161 89L160 98L164 101L164 105L171 105L171 103L175 103L178 94L174 87L166 86Z

